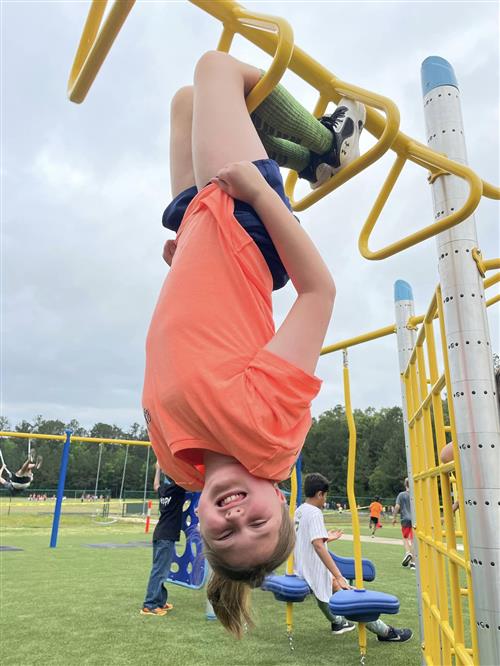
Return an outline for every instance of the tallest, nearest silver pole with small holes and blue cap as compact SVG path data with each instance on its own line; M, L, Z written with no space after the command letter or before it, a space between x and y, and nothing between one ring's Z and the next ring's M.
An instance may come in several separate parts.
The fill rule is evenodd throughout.
M467 163L460 93L452 66L432 56L422 63L427 142L438 153ZM477 92L477 91L476 91ZM467 186L455 176L432 183L435 218L457 210ZM500 424L484 290L472 250L474 216L437 236L453 410L455 455L460 456L479 663L500 664Z

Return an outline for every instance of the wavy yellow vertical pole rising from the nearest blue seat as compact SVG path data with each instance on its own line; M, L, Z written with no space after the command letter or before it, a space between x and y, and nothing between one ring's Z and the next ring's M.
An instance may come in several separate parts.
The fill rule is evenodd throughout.
M359 528L358 507L356 505L356 493L354 491L354 478L356 474L356 424L352 414L351 388L349 384L349 360L347 349L343 350L344 357L344 400L347 426L349 428L349 458L347 462L347 498L352 520L352 537L354 548L354 574L358 590L363 589L363 564L361 562L361 532ZM364 622L358 623L358 643L361 659L366 655L366 626Z

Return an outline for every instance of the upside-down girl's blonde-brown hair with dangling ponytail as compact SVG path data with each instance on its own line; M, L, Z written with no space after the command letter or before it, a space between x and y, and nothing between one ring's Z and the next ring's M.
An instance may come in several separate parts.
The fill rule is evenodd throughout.
M231 569L210 545L205 543L205 555L213 569L208 582L207 596L222 626L236 638L241 638L245 627L253 627L250 596L264 578L282 564L295 546L295 529L286 503L282 506L278 544L267 562L251 569Z

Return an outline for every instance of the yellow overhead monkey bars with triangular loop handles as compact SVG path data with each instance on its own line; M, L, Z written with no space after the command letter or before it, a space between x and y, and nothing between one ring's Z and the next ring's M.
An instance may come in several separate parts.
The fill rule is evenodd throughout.
M436 153L424 144L400 132L399 111L390 99L341 81L299 47L295 46L292 29L285 20L265 14L248 12L233 0L190 1L222 22L223 32L218 45L219 50L228 51L234 35L240 34L273 56L269 71L249 95L248 106L250 110L265 99L278 83L287 67L318 90L319 99L314 109L315 115L323 113L329 101L338 102L341 97L355 99L367 106L365 127L378 139L374 146L345 169L342 169L335 178L330 179L317 190L298 201L295 201L293 197L297 174L290 172L286 181L286 192L294 209L296 211L305 210L373 164L391 148L396 153L395 162L363 225L358 240L359 250L366 259L385 259L463 222L472 215L483 195L492 199L500 199L500 188L481 180L472 169ZM103 22L107 0L93 0L69 78L68 93L71 101L79 103L85 99L134 4L135 0L115 1ZM375 109L383 111L386 117L383 118ZM469 188L467 199L459 210L438 222L394 241L379 250L371 250L368 247L371 233L408 160L428 169L431 182L436 178L450 175L465 180Z

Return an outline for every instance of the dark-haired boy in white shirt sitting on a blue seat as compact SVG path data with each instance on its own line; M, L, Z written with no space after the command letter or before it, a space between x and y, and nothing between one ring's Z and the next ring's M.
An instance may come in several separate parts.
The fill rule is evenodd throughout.
M338 530L327 532L325 527L323 507L329 487L328 480L322 474L308 474L304 479L306 501L295 512L295 572L304 578L313 591L321 612L331 623L332 634L344 634L352 631L355 625L340 615L334 615L328 607L334 592L350 589L326 545L342 535ZM383 642L404 643L413 635L411 629L396 629L382 620L368 622L366 628Z

